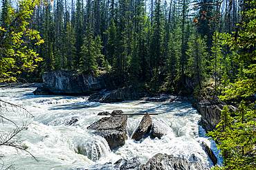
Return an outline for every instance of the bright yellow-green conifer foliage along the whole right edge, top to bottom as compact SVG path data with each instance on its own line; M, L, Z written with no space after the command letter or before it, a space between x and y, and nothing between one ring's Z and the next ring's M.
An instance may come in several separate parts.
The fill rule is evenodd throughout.
M240 50L240 54L233 56L232 62L240 63L239 78L232 87L226 90L222 100L230 100L237 97L248 97L256 93L256 1L246 2L251 8L242 12L247 21L240 23L241 30L234 32L234 36L223 33L223 44L229 45L232 50ZM248 64L246 69L242 65ZM227 107L221 112L221 123L217 125L217 131L209 132L215 141L219 142L219 149L224 159L222 169L256 169L256 103L239 103L235 111L235 117L231 118ZM217 168L221 169L221 168Z

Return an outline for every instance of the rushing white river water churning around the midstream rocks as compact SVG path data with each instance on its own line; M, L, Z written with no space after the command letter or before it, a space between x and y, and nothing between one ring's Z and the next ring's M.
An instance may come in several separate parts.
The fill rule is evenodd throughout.
M26 152L18 152L12 147L1 147L4 164L15 163L18 169L100 169L106 162L116 162L120 158L138 158L146 163L156 153L173 154L187 158L190 162L199 160L205 166L212 167L212 162L202 148L205 142L218 156L216 144L205 137L205 131L198 125L201 116L188 103L147 102L143 100L125 101L122 103L93 103L87 96L35 96L35 88L1 88L1 100L21 105L30 111L35 118L28 118L9 108L1 113L15 123L22 125L26 120L28 128L21 131L21 139L28 151L39 160L35 162ZM140 141L132 140L131 134L143 116L129 116L127 132L129 138L125 145L110 151L107 141L95 136L86 129L91 123L99 120L101 111L122 109L127 114L158 113L152 116L155 120L169 125L167 135L161 139L147 136ZM13 111L12 111L13 110ZM66 125L77 119L73 125ZM0 124L2 133L14 126L10 123ZM218 158L221 164L221 158ZM107 169L110 169L107 168Z

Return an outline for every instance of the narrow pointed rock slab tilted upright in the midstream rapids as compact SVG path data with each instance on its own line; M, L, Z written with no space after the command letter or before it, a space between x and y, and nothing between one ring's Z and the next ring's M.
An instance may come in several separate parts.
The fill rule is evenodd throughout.
M140 121L140 125L136 128L134 131L134 134L131 136L131 138L135 140L140 140L147 134L152 127L152 120L148 113L143 116L143 119Z

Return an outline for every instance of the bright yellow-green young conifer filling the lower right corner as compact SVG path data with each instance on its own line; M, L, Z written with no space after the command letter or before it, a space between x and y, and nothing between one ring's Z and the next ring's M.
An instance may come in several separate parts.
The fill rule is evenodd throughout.
M241 103L235 118L230 116L228 107L221 112L221 122L216 131L208 136L217 141L223 156L223 169L255 169L255 110Z

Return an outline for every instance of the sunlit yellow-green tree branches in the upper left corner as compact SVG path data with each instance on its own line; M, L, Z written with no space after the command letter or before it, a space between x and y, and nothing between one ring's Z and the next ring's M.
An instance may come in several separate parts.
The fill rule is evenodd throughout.
M44 43L44 40L39 36L37 30L28 28L28 19L33 14L33 10L37 3L41 1L24 0L19 1L19 10L8 7L2 11L1 19L5 22L0 27L0 82L16 81L16 75L21 73L21 70L33 71L37 65L37 61L42 61L38 54L29 48L24 37L35 45Z

